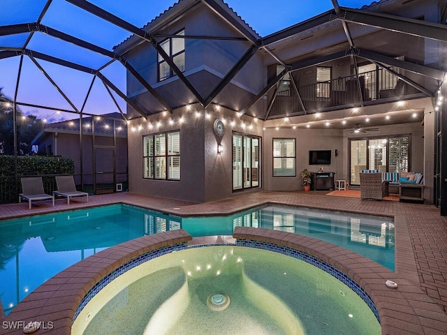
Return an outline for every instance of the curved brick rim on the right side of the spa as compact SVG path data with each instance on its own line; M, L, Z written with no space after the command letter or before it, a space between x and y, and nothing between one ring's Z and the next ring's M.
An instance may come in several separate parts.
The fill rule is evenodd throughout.
M235 227L237 241L256 247L275 245L314 256L357 283L377 308L383 335L445 334L447 315L406 274L399 275L358 253L325 241L290 232ZM261 243L259 243L261 242ZM279 248L279 250L282 250ZM388 288L392 279L397 288Z

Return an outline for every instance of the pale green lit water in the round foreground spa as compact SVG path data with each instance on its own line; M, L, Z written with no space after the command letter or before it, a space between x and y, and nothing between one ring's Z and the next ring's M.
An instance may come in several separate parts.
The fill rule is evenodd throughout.
M230 297L212 311L207 298ZM138 265L99 291L72 334L381 334L365 301L330 274L240 246L189 248Z

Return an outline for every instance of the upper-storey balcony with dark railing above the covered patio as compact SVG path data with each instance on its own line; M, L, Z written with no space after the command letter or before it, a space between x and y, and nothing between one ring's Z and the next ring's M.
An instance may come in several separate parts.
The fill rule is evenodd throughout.
M404 97L423 96L417 89L383 69L361 73L358 80L356 76L351 75L300 86L297 89L299 97L290 82L279 84L270 117L360 106L360 101L363 105L373 105L397 101Z

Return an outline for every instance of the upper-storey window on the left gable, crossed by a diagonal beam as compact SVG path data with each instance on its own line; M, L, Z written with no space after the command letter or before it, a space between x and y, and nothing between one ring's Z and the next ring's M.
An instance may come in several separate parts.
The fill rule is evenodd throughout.
M184 30L179 31L176 35L184 36ZM174 64L184 72L184 38L168 38L160 43L160 46L168 54ZM159 66L159 82L175 75L169 64L158 54L157 64Z

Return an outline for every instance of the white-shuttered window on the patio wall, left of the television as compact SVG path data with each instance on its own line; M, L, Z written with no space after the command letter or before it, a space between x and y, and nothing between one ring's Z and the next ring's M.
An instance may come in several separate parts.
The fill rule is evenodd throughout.
M295 138L273 139L273 177L295 177Z

